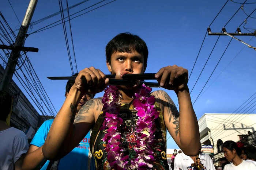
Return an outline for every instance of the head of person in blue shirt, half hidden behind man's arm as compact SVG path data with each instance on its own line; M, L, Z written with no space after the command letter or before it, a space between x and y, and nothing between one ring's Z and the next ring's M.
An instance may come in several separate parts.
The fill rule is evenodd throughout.
M72 76L75 76L75 77L76 77L77 75L78 75L78 73L75 73L75 74L72 75ZM71 87L74 85L74 83L75 83L75 80L68 80L67 85L66 85L65 97L68 96L68 93L69 93ZM79 111L79 110L81 109L81 107L86 103L86 101L88 101L88 100L94 98L94 96L95 96L95 94L90 94L90 93L84 94L83 97L81 98L81 100L80 100L78 106L77 106L76 113L78 113L78 111Z

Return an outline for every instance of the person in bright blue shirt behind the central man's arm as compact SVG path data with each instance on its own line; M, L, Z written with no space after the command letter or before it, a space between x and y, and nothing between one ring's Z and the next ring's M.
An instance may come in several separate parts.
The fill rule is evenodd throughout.
M73 76L77 76L78 73L74 74ZM65 97L68 96L69 90L71 86L74 84L74 80L69 80L66 85L66 92ZM93 98L95 94L86 93L80 99L80 102L77 106L74 107L76 109L76 114L81 109L81 107L86 103L86 101ZM75 118L71 117L71 119ZM35 134L33 140L29 144L29 150L26 153L24 158L22 169L29 170L29 169L51 169L51 170L62 170L62 169L88 169L88 170L95 170L95 166L93 164L94 158L91 157L90 153L90 132L84 137L84 139L65 157L61 158L57 161L49 161L44 158L42 152L42 146L45 143L46 136L50 130L50 127L53 123L53 119L46 120L41 127L38 129L37 133Z

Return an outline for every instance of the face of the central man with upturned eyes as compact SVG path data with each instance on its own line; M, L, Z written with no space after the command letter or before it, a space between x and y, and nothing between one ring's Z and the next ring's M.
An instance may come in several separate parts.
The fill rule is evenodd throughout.
M125 74L144 73L143 54L133 51L132 53L115 52L111 55L111 64L107 62L109 71L116 74L117 79L122 79Z

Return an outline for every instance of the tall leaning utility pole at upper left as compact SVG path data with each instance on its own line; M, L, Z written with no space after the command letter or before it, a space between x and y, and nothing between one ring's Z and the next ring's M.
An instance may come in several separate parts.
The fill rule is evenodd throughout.
M4 75L2 81L0 83L0 90L6 90L8 88L9 83L12 80L12 76L15 72L15 67L18 63L18 59L20 57L20 50L22 49L27 30L29 28L30 21L32 19L33 13L35 11L35 6L37 5L38 0L30 0L29 7L27 8L26 15L23 19L23 22L20 26L19 33L14 43L14 47L11 51L10 58L8 59L7 65L5 67Z

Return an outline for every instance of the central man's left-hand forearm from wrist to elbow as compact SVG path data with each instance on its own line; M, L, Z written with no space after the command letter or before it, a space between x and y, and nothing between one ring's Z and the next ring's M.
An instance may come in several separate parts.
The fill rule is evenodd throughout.
M68 147L72 135L76 107L82 98L82 93L75 88L70 89L69 94L55 117L42 147L44 157L48 160L56 160L71 151Z

